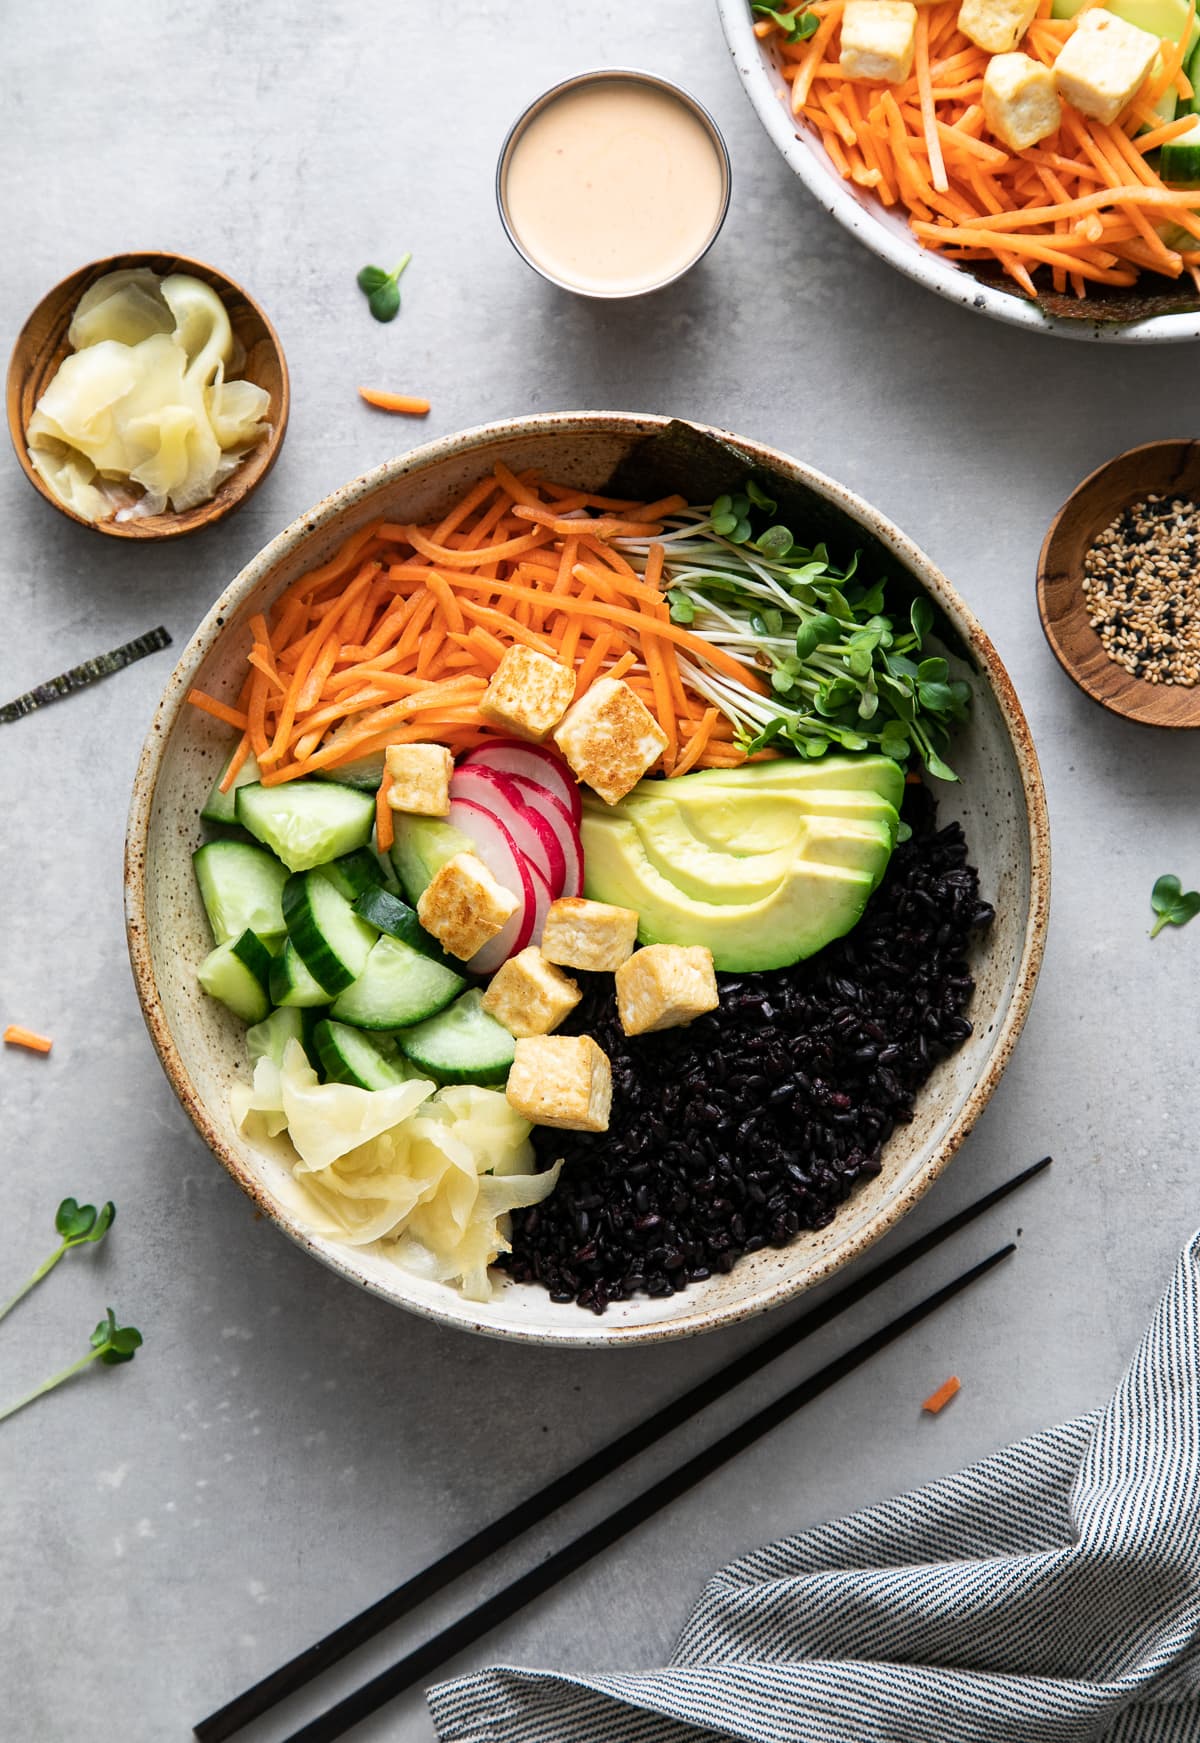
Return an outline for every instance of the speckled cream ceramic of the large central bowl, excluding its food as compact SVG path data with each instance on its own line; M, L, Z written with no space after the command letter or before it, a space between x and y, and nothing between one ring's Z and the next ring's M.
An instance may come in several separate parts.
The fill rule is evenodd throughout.
M248 617L366 521L441 514L495 460L598 490L617 462L666 422L563 413L492 424L389 460L317 504L237 575L188 643L141 753L129 814L126 908L138 995L167 1077L218 1161L286 1234L342 1276L445 1325L525 1342L637 1344L706 1332L785 1302L855 1258L916 1204L970 1131L1017 1041L1041 962L1050 877L1045 797L1026 718L991 641L928 558L865 502L787 455L713 431L708 434L738 448L748 467L783 474L808 495L815 514L841 523L848 540L883 554L893 572L907 572L945 612L977 666L975 718L954 746L963 783L945 790L944 810L963 819L998 917L975 962L975 1034L935 1070L914 1122L888 1143L883 1173L828 1229L804 1234L783 1251L743 1258L729 1276L670 1300L623 1302L593 1318L508 1281L487 1306L467 1302L445 1285L398 1269L382 1251L309 1234L286 1143L251 1143L234 1128L228 1088L246 1075L244 1032L195 985L194 964L209 950L209 934L190 865L201 840L199 809L228 751L228 730L187 706L188 688L235 692Z

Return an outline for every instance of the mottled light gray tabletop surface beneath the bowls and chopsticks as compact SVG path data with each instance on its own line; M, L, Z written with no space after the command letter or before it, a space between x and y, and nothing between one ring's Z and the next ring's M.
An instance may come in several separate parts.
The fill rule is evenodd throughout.
M1053 1150L1052 1175L938 1255L930 1281L1017 1229L1019 1257L457 1668L652 1665L727 1556L1101 1401L1193 1229L1200 926L1155 945L1146 931L1160 872L1200 878L1195 743L1073 690L1041 638L1033 573L1047 521L1087 471L1191 431L1195 352L1017 335L877 265L760 136L706 3L7 0L2 24L5 343L73 267L180 249L270 310L295 401L265 488L174 547L89 535L0 465L0 695L157 622L183 645L272 533L401 444L607 406L724 424L860 490L958 582L1029 711L1055 849L1041 988L984 1121L902 1236ZM685 82L734 160L708 261L628 307L542 286L492 204L516 110L600 63ZM375 326L354 272L406 248L401 319ZM420 427L375 415L359 382L427 392L433 415ZM760 1335L617 1358L506 1349L356 1293L255 1220L174 1103L126 962L126 804L167 669L169 655L145 661L0 739L0 1020L56 1042L49 1060L0 1060L0 1293L52 1245L63 1194L120 1206L106 1246L68 1258L0 1330L0 1398L82 1349L106 1302L147 1335L131 1368L0 1428L5 1743L187 1738L248 1680ZM717 1419L916 1293L912 1278L893 1286ZM921 1417L952 1370L961 1398ZM684 1433L605 1499L708 1433ZM598 1509L537 1532L328 1692ZM284 1736L310 1712L253 1736ZM427 1743L420 1696L356 1736Z

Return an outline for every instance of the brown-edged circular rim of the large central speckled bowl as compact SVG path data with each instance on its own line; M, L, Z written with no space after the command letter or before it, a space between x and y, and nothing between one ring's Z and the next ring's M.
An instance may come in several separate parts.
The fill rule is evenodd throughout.
M187 692L194 683L202 661L213 650L216 640L223 633L223 626L239 608L241 601L302 539L307 539L314 530L335 521L340 514L351 509L365 495L370 495L370 492L377 490L380 485L394 483L396 479L406 478L408 474L417 472L438 460L467 453L473 448L487 446L497 439L511 439L530 432L583 434L588 431L595 432L597 429L617 436L638 437L661 431L668 422L668 418L619 411L576 411L513 418L508 422L480 425L457 436L445 436L440 441L412 450L403 458L387 460L372 472L365 472L361 478L344 485L340 490L333 492L331 497L326 497L324 502L317 504L307 514L302 514L297 521L293 521L291 526L265 546L258 556L251 558L241 575L237 575L216 600L208 617L187 645L180 664L167 680L167 687L155 711L141 758L138 762L133 802L129 809L129 828L126 835L126 926L138 999L167 1079L213 1154L249 1194L249 1197L265 1211L265 1215L269 1215L288 1236L291 1236L293 1241L314 1253L333 1271L338 1271L351 1281L370 1288L373 1293L378 1293L394 1304L399 1302L398 1293L378 1288L372 1279L356 1271L352 1248L337 1248L335 1251L323 1248L283 1206L276 1204L274 1199L265 1194L262 1183L244 1168L218 1133L208 1109L192 1084L192 1079L188 1077L180 1049L169 1032L155 983L148 943L145 878L150 817L164 749L169 734L185 708ZM701 431L706 429L705 425L696 427ZM1038 769L1038 758L1029 736L1029 727L1012 682L999 662L999 655L996 654L992 643L933 563L930 563L917 546L914 546L910 539L893 526L891 521L863 502L862 497L856 497L853 492L825 478L822 472L816 472L813 467L808 467L788 455L781 455L778 450L747 441L743 436L731 436L727 431L708 429L706 432L717 439L734 441L755 465L783 467L801 483L808 485L827 500L837 504L860 525L874 532L876 537L879 537L883 544L897 554L897 558L919 579L921 586L938 601L959 634L970 641L973 655L985 666L987 678L1010 734L1013 755L1020 770L1029 824L1029 913L1022 936L1020 957L1012 978L1008 1009L996 1028L985 1068L973 1084L970 1095L965 1098L958 1119L947 1128L942 1142L931 1149L923 1168L905 1182L903 1190L897 1192L895 1199L883 1206L870 1222L863 1224L834 1251L815 1258L808 1267L778 1278L755 1295L740 1299L727 1306L713 1307L705 1304L703 1293L698 1292L696 1306L691 1311L682 1312L678 1318L645 1325L619 1325L612 1328L605 1328L603 1321L597 1321L583 1312L563 1312L562 1330L555 1326L553 1332L534 1326L481 1325L474 1314L473 1304L450 1288L445 1290L445 1300L440 1299L436 1306L427 1306L426 1302L412 1299L403 1299L403 1302L399 1302L410 1311L441 1321L443 1325L466 1326L474 1332L511 1337L532 1344L612 1347L624 1344L663 1342L666 1339L685 1337L701 1330L713 1330L720 1325L733 1325L740 1319L766 1312L769 1307L776 1307L781 1302L790 1300L802 1290L822 1283L851 1258L856 1258L862 1251L872 1246L900 1220L905 1211L912 1208L919 1197L924 1196L928 1187L937 1180L954 1152L959 1149L963 1138L972 1129L975 1119L987 1103L989 1095L996 1088L996 1082L999 1081L1005 1063L1008 1061L1020 1034L1029 1009L1029 1000L1033 999L1038 969L1041 966L1045 917L1050 894L1050 828L1041 772ZM403 1279L403 1272L399 1272L399 1278ZM403 1283L399 1286L403 1286Z

